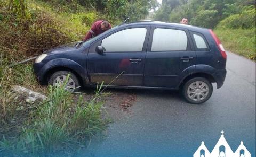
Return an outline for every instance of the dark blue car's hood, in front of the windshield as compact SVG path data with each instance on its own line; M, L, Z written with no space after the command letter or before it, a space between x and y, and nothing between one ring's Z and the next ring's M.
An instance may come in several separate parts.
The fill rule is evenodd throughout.
M59 47L54 47L44 51L44 54L50 55L50 54L58 54L58 53L67 53L69 51L73 52L77 50L77 48L81 47L82 44L80 45L79 43L81 43L81 41L68 43L67 45L62 45Z

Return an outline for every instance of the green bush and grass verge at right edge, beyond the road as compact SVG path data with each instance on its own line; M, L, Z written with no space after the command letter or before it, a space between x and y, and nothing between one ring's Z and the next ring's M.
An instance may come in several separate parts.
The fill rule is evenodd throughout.
M220 21L214 32L227 50L256 60L255 18L255 8L244 7L240 14L231 15Z

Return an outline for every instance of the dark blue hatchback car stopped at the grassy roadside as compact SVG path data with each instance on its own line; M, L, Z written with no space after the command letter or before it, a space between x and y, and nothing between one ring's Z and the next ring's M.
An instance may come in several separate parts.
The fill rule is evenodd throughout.
M203 103L212 84L223 85L226 52L212 30L164 22L114 27L86 42L45 51L34 63L41 84L66 89L95 86L182 90L190 103ZM113 81L114 80L114 81Z

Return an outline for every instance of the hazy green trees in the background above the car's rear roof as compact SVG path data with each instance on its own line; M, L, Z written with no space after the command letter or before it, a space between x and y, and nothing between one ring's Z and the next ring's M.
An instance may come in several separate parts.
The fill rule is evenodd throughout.
M247 7L255 9L254 4L253 0L163 0L154 19L179 23L187 17L191 25L214 28L221 20Z

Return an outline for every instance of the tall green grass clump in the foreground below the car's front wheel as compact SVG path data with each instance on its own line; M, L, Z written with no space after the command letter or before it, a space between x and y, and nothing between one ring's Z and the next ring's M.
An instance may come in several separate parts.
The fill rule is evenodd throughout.
M2 138L1 156L68 156L86 146L92 137L106 129L107 122L101 118L103 95L101 87L90 101L71 99L65 84L49 86L47 100L31 113L21 127L20 135Z

